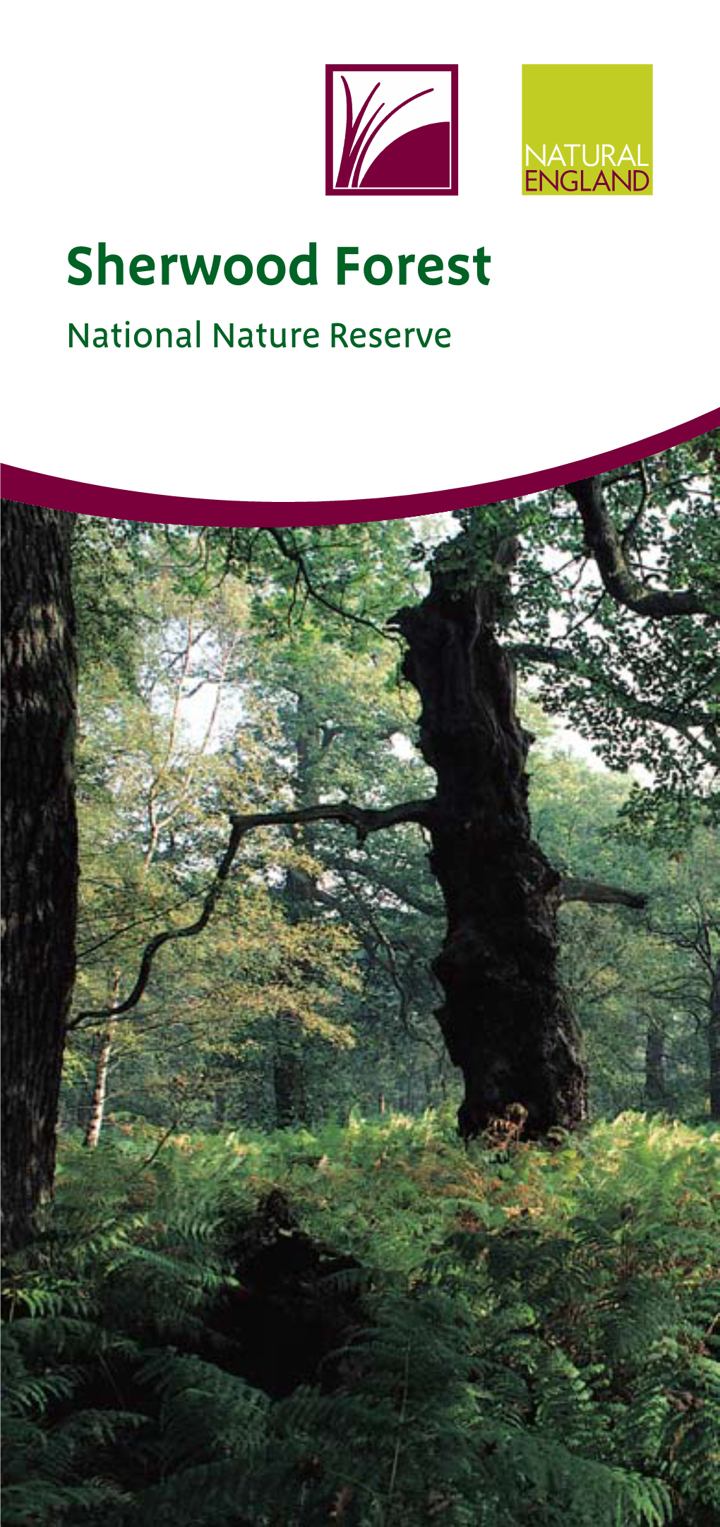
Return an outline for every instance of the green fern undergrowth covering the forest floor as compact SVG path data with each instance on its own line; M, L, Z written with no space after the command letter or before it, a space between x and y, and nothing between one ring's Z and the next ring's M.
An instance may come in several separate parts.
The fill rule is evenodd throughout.
M154 1151L130 1127L64 1145L44 1235L9 1267L11 1524L711 1527L709 1127L624 1115L465 1151L427 1115ZM241 1345L209 1345L272 1188L355 1260L323 1284L354 1301L342 1350L275 1400Z

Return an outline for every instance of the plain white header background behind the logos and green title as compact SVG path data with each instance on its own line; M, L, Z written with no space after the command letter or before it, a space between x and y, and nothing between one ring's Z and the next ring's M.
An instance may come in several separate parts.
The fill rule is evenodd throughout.
M3 460L236 499L409 493L622 446L717 405L712 8L26 3L6 27ZM717 17L717 12L715 12ZM714 27L714 32L711 31ZM325 197L325 63L458 63L459 195ZM522 197L522 63L654 66L654 195ZM715 211L717 215L717 211ZM287 261L319 286L67 284L67 250ZM336 287L334 252L491 253L491 284ZM177 267L175 267L177 269ZM125 270L127 275L127 270ZM203 321L69 350L69 321ZM212 322L316 351L212 350ZM333 351L331 321L452 330Z

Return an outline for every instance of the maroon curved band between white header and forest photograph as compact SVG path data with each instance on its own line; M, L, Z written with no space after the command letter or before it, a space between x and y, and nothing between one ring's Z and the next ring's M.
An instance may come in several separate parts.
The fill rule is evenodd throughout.
M73 515L102 515L116 519L142 519L163 525L348 525L368 519L409 519L412 515L439 515L442 510L468 508L471 504L494 504L497 499L538 493L561 487L577 478L627 466L641 457L656 455L670 446L680 446L708 429L720 426L720 408L688 418L685 425L664 429L659 435L633 440L615 450L603 450L581 461L566 461L540 472L499 478L494 483L473 483L468 487L439 489L433 493L400 493L391 498L328 498L316 502L304 499L232 499L180 498L168 493L136 493L124 487L99 487L73 483L72 478L49 476L26 467L2 466L3 498L20 504L41 504L64 508Z

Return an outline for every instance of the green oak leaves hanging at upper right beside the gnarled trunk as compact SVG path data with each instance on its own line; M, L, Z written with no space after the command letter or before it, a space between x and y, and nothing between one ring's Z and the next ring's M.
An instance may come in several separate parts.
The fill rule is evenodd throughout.
M627 469L603 495L632 579L693 589L702 615L639 618L604 589L566 489L522 499L513 640L549 715L592 741L610 768L647 770L630 822L650 831L717 809L718 435ZM545 649L545 655L540 649Z

